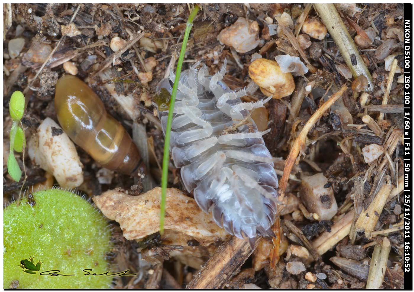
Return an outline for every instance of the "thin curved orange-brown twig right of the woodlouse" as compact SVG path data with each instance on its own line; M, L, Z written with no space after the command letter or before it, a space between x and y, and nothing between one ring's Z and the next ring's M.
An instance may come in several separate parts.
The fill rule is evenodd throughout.
M296 138L292 146L292 149L289 153L289 156L286 158L286 164L283 170L283 176L282 176L282 179L280 180L280 185L279 185L280 194L284 194L284 191L286 190L290 172L292 171L293 165L296 161L296 158L298 157L299 152L302 151L303 147L305 146L306 136L308 135L310 129L312 129L312 127L316 124L318 119L322 117L322 114L326 112L331 107L331 105L335 101L337 101L337 99L339 99L339 97L342 96L345 90L347 90L347 86L343 85L342 88L338 92L334 93L330 97L329 100L327 100L320 108L318 108L318 110L316 110L316 112L314 112L313 115L309 118L308 122L306 122L302 131Z

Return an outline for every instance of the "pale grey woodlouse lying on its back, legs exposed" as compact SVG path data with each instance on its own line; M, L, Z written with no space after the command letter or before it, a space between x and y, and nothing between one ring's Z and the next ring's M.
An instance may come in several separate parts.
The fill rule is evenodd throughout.
M221 81L225 64L213 76L205 65L198 70L199 64L181 73L171 130L173 161L197 204L227 232L239 238L273 235L277 175L262 139L267 131L258 132L248 117L270 98L243 103L246 91L231 91ZM171 72L156 91L171 93L174 78ZM167 115L159 111L164 131Z

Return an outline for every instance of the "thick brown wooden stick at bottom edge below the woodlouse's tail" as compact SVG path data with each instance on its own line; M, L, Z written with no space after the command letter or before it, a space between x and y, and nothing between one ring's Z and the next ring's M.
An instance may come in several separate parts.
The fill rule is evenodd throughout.
M248 241L232 236L187 285L187 289L221 289L253 253Z

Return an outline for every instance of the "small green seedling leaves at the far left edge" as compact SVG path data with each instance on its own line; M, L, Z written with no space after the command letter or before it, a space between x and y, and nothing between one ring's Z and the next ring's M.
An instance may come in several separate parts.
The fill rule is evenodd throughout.
M7 158L7 171L13 180L19 181L22 178L22 170L14 157L14 151L24 152L26 139L22 122L20 121L24 113L24 95L20 91L14 91L9 101L10 117L13 120L12 129L10 130L10 153Z

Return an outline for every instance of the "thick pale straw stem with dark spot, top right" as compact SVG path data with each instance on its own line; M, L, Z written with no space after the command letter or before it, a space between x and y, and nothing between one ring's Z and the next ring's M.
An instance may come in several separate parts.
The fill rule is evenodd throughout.
M368 90L374 90L374 83L368 68L365 65L354 40L349 35L347 27L339 16L335 5L332 3L313 3L313 7L318 12L320 19L325 24L328 32L338 46L339 52L348 68L351 70L352 76L365 76L368 79Z

